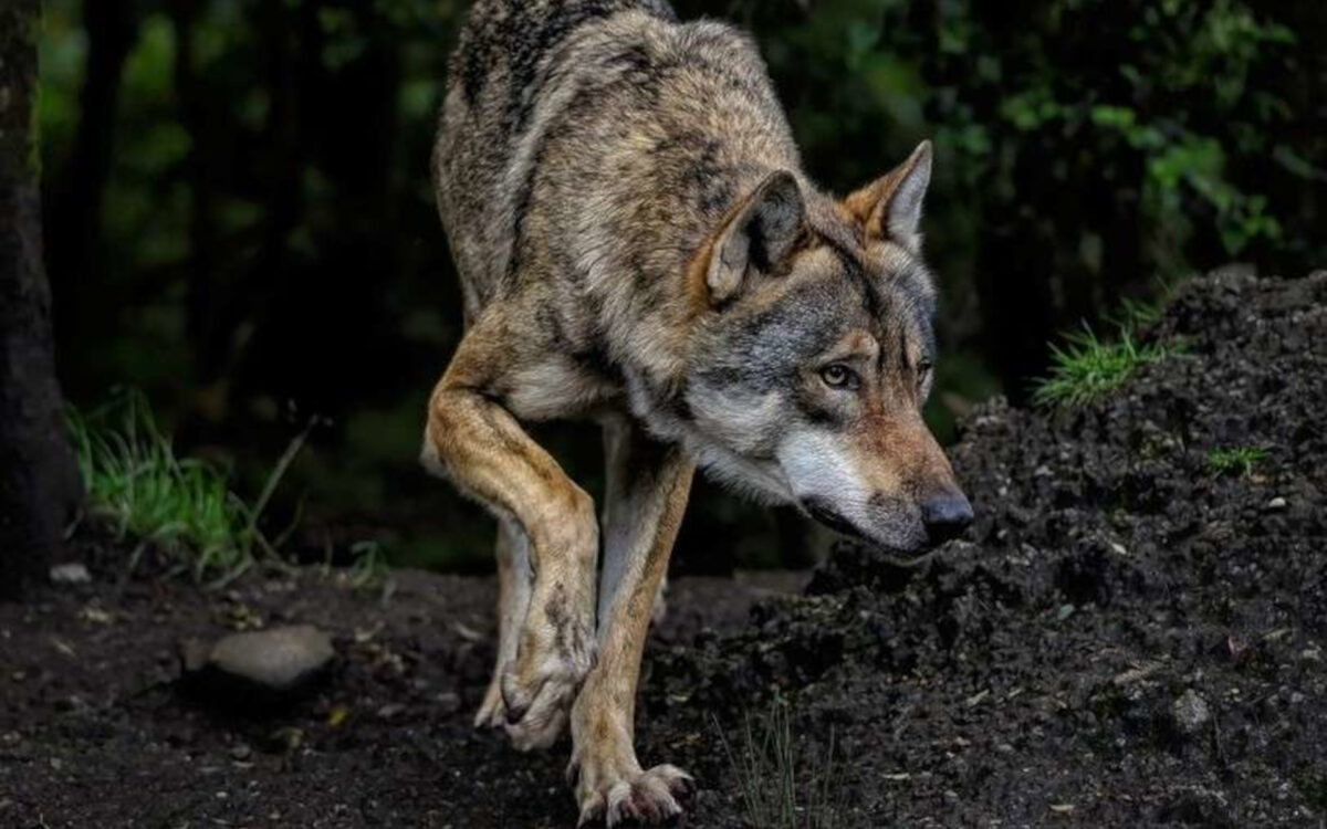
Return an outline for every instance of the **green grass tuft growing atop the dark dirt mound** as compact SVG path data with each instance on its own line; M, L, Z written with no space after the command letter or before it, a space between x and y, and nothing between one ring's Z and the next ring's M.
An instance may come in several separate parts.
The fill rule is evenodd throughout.
M1127 312L1131 316L1139 310ZM1135 316L1135 320L1137 317ZM1038 406L1078 409L1093 403L1124 385L1139 367L1160 362L1177 351L1160 344L1139 345L1133 324L1120 325L1119 340L1109 342L1084 326L1051 346L1051 375L1038 382L1032 402Z

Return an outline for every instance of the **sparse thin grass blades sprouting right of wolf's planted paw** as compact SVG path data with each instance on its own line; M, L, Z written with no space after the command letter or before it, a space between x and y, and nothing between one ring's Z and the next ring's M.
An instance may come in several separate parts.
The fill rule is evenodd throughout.
M775 698L763 716L746 712L736 747L714 722L733 776L738 781L746 821L762 829L839 829L845 818L844 787L835 772L835 739L823 757L812 756L809 772L798 764L787 700Z

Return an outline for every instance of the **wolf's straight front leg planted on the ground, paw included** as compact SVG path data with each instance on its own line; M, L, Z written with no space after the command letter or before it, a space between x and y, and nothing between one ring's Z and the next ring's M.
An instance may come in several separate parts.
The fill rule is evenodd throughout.
M693 466L625 422L605 426L608 493L598 593L598 661L572 708L580 822L660 822L681 813L690 784L673 765L641 768L633 745L636 682Z

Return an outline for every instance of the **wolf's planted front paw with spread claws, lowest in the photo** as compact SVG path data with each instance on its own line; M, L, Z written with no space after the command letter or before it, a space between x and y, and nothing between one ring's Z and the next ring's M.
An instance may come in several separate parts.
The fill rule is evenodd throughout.
M656 765L649 771L612 773L581 768L576 785L580 804L577 826L604 821L617 826L624 821L661 825L682 814L678 798L691 791L691 776L675 765Z

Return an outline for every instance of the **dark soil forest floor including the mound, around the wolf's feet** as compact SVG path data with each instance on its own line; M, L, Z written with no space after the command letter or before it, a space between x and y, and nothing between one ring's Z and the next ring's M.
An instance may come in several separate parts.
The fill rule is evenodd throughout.
M951 451L978 523L916 566L674 582L637 730L695 776L686 825L748 825L725 740L740 765L771 699L803 806L771 826L1327 825L1327 272L1193 280L1144 341L1180 353L1104 402L979 409ZM0 607L0 825L575 824L565 744L470 727L491 580L204 593L76 549L90 582ZM309 696L182 691L183 639L279 622L333 635Z

